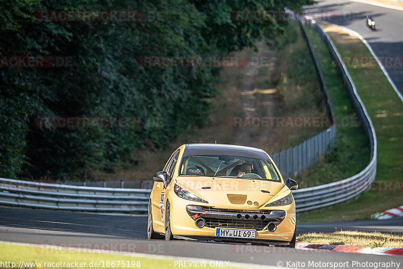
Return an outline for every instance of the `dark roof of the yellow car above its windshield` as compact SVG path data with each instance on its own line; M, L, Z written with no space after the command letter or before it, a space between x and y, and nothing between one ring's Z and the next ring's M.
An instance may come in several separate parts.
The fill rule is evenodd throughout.
M267 154L261 149L226 144L186 144L184 156L190 155L233 155L267 159Z

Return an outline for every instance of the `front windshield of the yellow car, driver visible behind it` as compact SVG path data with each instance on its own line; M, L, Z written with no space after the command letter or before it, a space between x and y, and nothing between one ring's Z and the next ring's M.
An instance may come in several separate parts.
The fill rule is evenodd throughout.
M185 156L183 157L179 174L281 181L270 160L232 155Z

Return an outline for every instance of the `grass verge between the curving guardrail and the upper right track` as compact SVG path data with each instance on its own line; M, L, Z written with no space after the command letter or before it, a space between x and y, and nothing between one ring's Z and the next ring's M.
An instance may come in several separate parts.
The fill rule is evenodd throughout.
M325 27L342 57L370 55L360 39L341 32L340 28ZM315 35L311 33L311 36ZM378 142L376 181L373 190L350 203L298 214L298 220L302 222L370 218L376 212L403 205L403 103L378 66L350 65L348 71L375 127ZM377 187L389 183L393 187ZM396 185L400 187L394 187Z

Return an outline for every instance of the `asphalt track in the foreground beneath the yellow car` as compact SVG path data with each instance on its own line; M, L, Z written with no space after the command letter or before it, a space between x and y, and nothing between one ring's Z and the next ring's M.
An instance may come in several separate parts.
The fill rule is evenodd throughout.
M192 242L175 240L144 240L146 238L146 217L130 215L101 215L92 213L48 211L22 208L0 208L0 241L68 245L74 247L124 250L178 257L208 258L220 261L235 261L282 267L328 268L318 262L342 262L345 268L373 268L352 266L353 262L400 262L400 256L370 255L331 252L329 250L299 250L284 247L268 247L245 244ZM402 219L388 221L367 220L337 223L298 223L298 232L333 231L334 227L357 230L393 230L403 233ZM320 227L322 225L322 227ZM374 228L375 227L375 228ZM316 262L316 263L315 263ZM349 262L349 263L346 263ZM340 267L340 266L339 266ZM396 267L394 267L396 268Z

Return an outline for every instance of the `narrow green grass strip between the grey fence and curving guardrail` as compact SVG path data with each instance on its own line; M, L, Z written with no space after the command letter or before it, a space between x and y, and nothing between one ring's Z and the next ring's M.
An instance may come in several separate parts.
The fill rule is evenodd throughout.
M370 158L369 141L358 122L341 74L327 46L311 29L306 28L306 32L324 76L337 131L331 152L308 172L295 178L300 187L317 186L353 176L367 166Z

